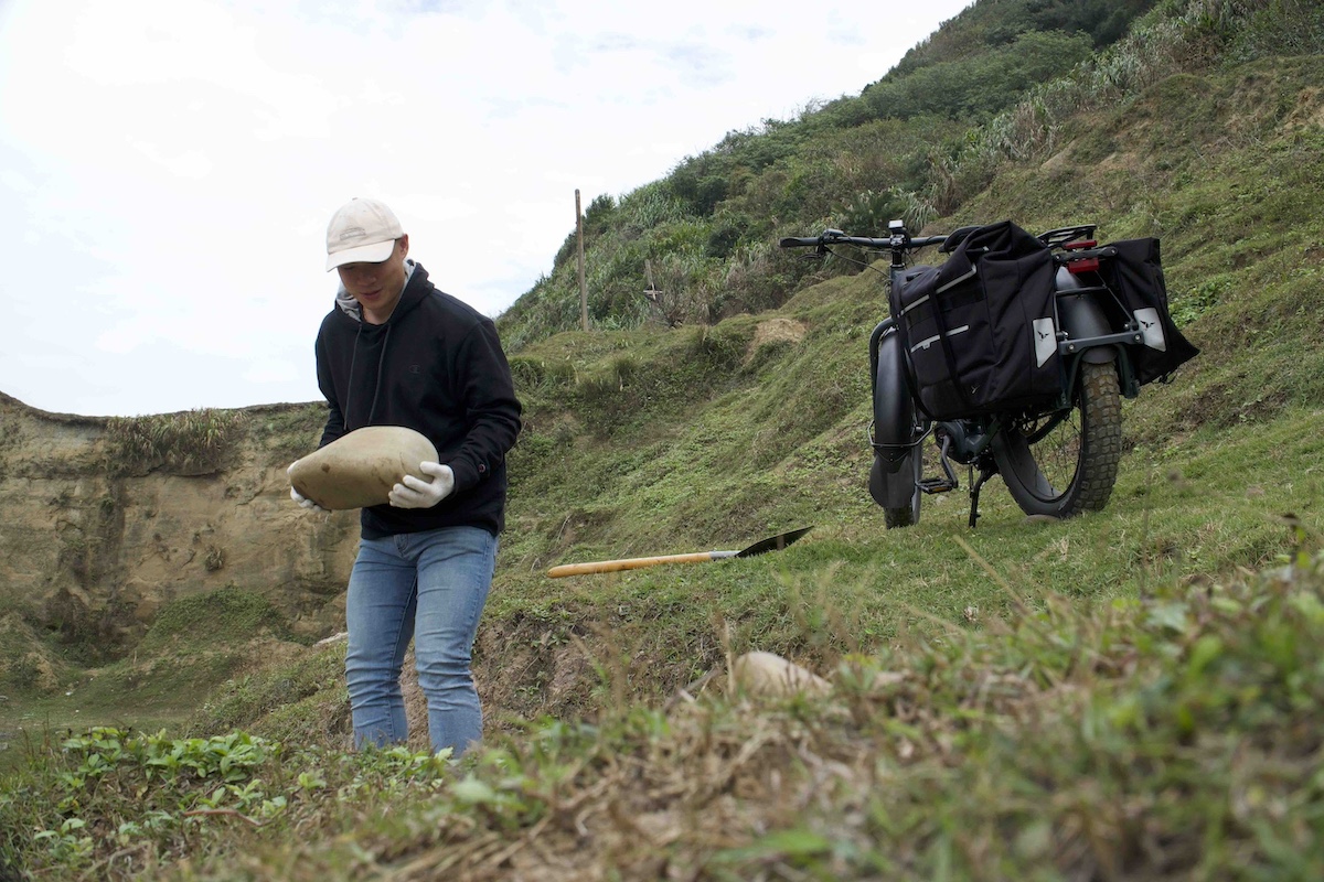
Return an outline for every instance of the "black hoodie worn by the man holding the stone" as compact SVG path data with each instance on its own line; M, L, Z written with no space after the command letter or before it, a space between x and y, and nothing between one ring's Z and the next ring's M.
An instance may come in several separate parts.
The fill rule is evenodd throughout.
M319 447L363 426L408 426L454 471L454 492L433 508L363 509L365 538L459 525L496 534L504 528L506 452L520 428L510 365L493 321L410 263L384 324L363 321L346 298L322 320L318 386L330 413Z

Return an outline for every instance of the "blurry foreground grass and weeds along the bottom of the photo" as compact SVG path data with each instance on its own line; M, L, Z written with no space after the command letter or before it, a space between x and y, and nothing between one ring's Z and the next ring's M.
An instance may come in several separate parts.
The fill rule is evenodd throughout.
M724 692L527 722L458 766L94 730L0 795L0 866L139 878L1312 878L1324 559L845 655L824 700ZM816 600L821 602L820 596ZM818 603L813 608L821 610ZM805 623L809 632L831 623ZM628 660L601 659L604 700ZM301 830L318 830L308 838ZM175 863L189 856L188 865Z

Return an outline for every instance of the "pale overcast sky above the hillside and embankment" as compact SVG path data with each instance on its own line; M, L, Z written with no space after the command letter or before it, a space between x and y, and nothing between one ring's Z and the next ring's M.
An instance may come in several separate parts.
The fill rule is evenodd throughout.
M342 202L388 202L495 316L551 271L576 189L858 94L969 3L0 0L0 391L320 399Z

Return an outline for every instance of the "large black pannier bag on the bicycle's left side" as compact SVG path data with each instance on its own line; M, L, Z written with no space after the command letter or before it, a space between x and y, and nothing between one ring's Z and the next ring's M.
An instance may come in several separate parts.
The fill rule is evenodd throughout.
M1062 366L1053 278L1051 251L1010 221L973 230L943 266L902 276L891 311L914 369L916 401L928 417L956 419L1057 401Z

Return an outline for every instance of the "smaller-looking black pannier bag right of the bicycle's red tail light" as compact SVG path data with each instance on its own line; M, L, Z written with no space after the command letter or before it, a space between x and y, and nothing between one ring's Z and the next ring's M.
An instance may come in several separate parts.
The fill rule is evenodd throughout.
M1193 346L1168 315L1168 286L1164 284L1158 239L1110 242L1117 257L1099 262L1099 275L1144 332L1144 345L1128 346L1131 366L1140 385L1161 380L1190 361L1200 349Z

